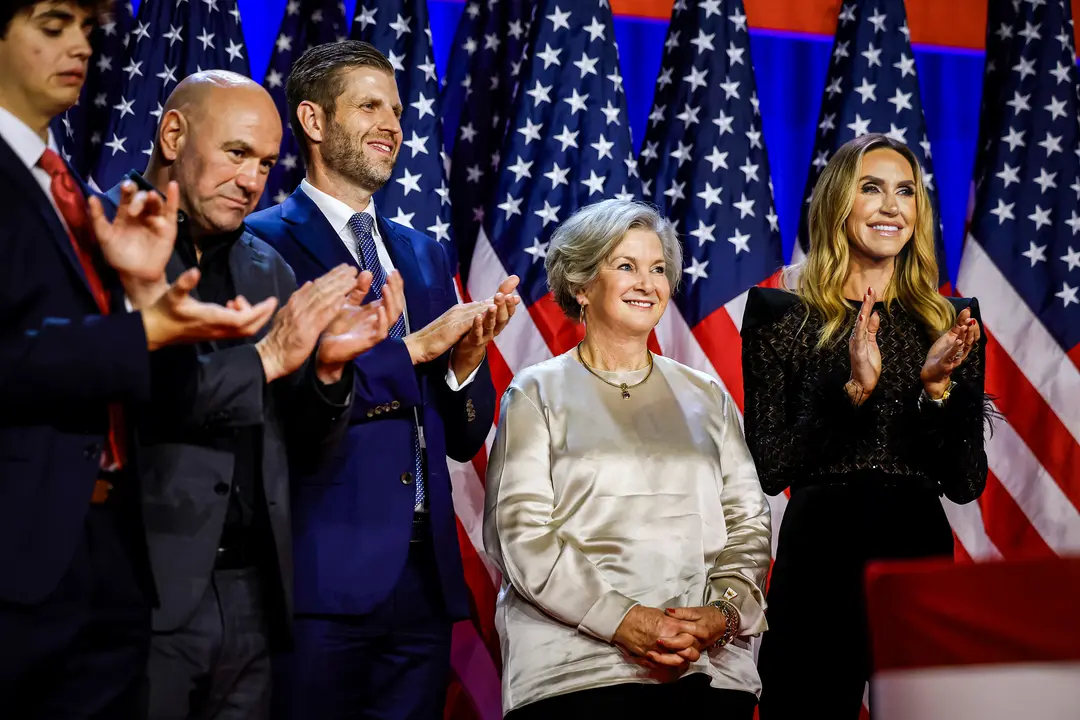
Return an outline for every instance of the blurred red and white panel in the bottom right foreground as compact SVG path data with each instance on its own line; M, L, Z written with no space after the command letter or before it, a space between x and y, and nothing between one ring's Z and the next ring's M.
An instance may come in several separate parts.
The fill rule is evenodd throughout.
M1010 611L1009 590L1021 587L1037 612ZM872 567L875 717L1076 718L1078 590L1076 558Z

